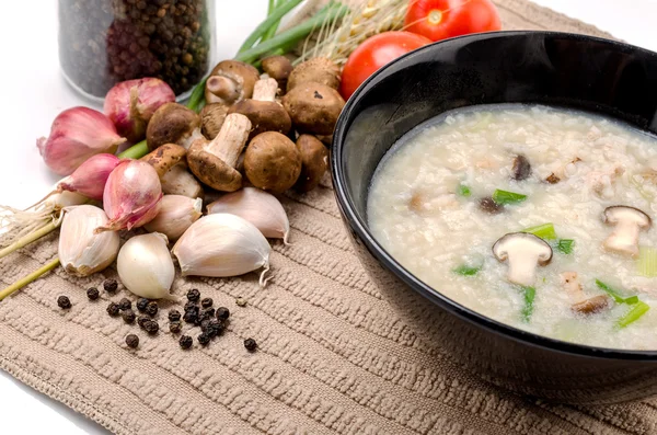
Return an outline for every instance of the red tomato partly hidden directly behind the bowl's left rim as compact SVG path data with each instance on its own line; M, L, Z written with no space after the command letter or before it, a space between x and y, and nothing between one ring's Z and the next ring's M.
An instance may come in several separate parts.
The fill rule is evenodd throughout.
M347 100L379 68L430 43L411 32L383 32L366 39L349 55L343 68L339 93Z

